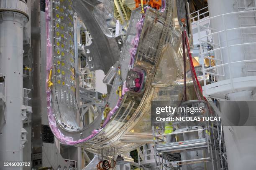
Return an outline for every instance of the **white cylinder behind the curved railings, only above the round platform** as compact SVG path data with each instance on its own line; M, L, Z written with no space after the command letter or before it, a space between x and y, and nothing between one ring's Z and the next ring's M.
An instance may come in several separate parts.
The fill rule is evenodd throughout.
M238 11L236 7L236 0L209 0L208 8L209 8L210 17ZM224 30L224 29L230 29L230 28L240 28L241 25L240 25L239 17L237 14L237 15L226 15L224 19L220 17L216 19L212 19L210 21L210 27L216 30ZM225 36L227 36L227 41ZM225 47L227 46L227 44L235 45L235 44L243 43L241 30L227 31L227 35L225 35L225 32L220 33L220 42L218 40L217 34L213 35L212 38L214 43L220 44L220 47ZM222 60L220 52L222 53L223 63L228 63L229 62L228 58L230 58L230 62L244 60L243 46L229 47L228 49L215 52L215 57L218 58L219 60ZM245 68L244 62L233 64L233 67L231 67L232 78L246 76L244 68ZM222 67L218 67L217 72L223 74ZM224 72L225 72L225 76L218 77L218 81L230 79L228 67L224 67Z

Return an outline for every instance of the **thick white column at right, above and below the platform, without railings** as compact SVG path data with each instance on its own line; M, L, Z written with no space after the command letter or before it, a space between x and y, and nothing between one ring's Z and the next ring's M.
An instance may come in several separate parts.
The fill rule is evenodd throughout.
M221 14L233 13L238 11L237 4L241 4L238 1L242 0L208 0L209 14L210 17L214 17ZM237 3L238 2L238 3ZM225 15L225 20L223 21L221 18L219 20L211 20L210 27L215 28L217 30L223 30L224 25L225 29L230 28L240 28L241 27L241 18L239 18L239 14L237 15ZM244 43L244 37L242 38L241 30L233 30L220 35L220 44L221 47L228 45L236 45ZM226 41L226 39L228 41ZM213 36L213 42L218 44L218 37ZM215 47L217 48L217 47ZM253 51L254 49L252 49ZM223 63L228 63L228 52L227 50L222 51L223 55ZM220 52L215 52L215 57L221 59ZM230 62L246 60L245 51L243 46L236 46L229 48L229 57ZM221 70L218 70L219 72ZM228 80L230 79L228 67L225 67L225 76L218 77L218 81L220 80ZM231 67L232 78L236 77L246 77L246 63L240 62L234 64ZM230 101L238 101L238 105L241 103L246 103L246 101L252 101L253 91L248 89L234 89L235 92L225 93ZM243 101L243 102L239 102ZM250 117L255 117L255 109L254 105L248 104L248 115L246 115L245 110L240 110L240 113L234 113L233 108L239 107L234 103L221 102L220 101L220 111L227 115L230 120L241 121L245 116L247 117L247 121L250 121ZM250 104L250 105L249 105ZM243 109L243 108L240 108ZM231 128L231 130L230 130ZM224 140L227 151L227 160L228 160L228 169L229 170L242 170L248 169L252 170L256 168L256 126L223 126L224 130Z

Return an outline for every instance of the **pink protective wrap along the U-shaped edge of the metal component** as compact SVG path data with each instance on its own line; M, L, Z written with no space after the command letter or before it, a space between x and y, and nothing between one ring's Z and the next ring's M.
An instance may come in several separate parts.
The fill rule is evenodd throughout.
M72 137L65 136L61 131L59 130L57 126L57 122L55 119L54 115L54 109L51 103L51 96L52 96L52 91L51 88L48 87L48 80L49 80L49 73L50 70L52 69L52 60L53 60L53 53L52 53L52 44L51 44L51 10L50 10L50 0L46 0L46 100L47 100L47 116L48 116L48 121L49 121L49 126L51 128L52 133L54 136L62 143L66 145L76 145L78 143L83 143L87 140L90 140L91 138L95 137L102 128L107 125L107 123L110 121L111 117L115 114L115 112L118 110L118 107L120 106L121 100L123 98L123 95L125 95L125 92L128 92L128 88L125 85L125 82L123 84L123 89L122 89L122 97L118 99L118 102L116 106L109 112L108 116L106 117L105 121L103 122L102 127L99 130L93 130L92 134L89 135L87 138L84 139L79 139L79 140L74 140ZM137 23L137 35L134 38L132 44L134 47L130 50L131 52L131 64L134 62L134 57L136 54L136 50L138 47L138 42L139 42L139 37L141 34L142 26L143 26L143 21L144 21L144 16L141 17L141 20Z

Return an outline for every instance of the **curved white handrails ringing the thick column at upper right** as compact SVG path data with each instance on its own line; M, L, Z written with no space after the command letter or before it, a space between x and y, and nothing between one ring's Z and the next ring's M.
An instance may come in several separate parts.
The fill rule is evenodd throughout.
M239 15L239 14L243 14L243 13L248 14L248 13L255 13L255 12L256 11L251 10L251 11L238 11L238 12L233 12L233 13L226 13L226 14L216 15L216 16L211 17L211 18L207 18L203 21L200 20L197 23L195 23L197 25L197 29L199 31L202 31L202 28L205 28L203 30L210 30L210 33L208 31L207 35L200 36L200 32L198 33L199 44L200 44L200 57L202 57L202 59L205 59L205 58L208 57L207 54L210 53L210 52L219 52L220 57L221 57L221 59L219 58L218 62L216 62L215 66L210 66L210 67L205 68L204 65L202 65L203 75L205 76L205 74L210 74L210 75L215 75L217 77L218 76L223 77L225 75L225 72L228 72L229 77L230 77L230 83L229 83L230 87L231 87L230 90L232 90L234 88L233 87L233 83L234 83L233 82L233 72L232 72L232 69L231 69L233 67L233 64L235 64L235 63L246 63L246 62L256 62L256 60L254 60L254 59L250 59L250 60L249 59L248 60L246 60L246 59L241 59L240 60L239 59L239 60L231 61L230 60L231 59L231 54L229 52L230 48L231 47L238 47L238 46L242 47L242 46L256 45L256 41L254 41L254 42L236 42L236 43L232 42L231 43L230 40L227 37L227 34L228 34L228 32L231 32L231 31L234 31L234 30L250 30L252 28L255 29L256 26L252 25L252 26L243 27L243 26L240 25L240 27L238 27L238 28L235 27L235 26L234 26L235 28L226 28L225 27L225 17L230 16L230 15ZM206 26L204 26L205 21L211 22L211 20L222 20L223 28L217 30L215 28L211 28L211 27L207 28ZM209 50L209 51L205 52L203 47L202 47L202 44L207 43L207 44L212 45L213 43L212 42L206 42L203 38L210 37L212 35L215 35L215 38L216 38L215 42L214 42L214 48L212 50ZM223 40L220 40L221 36L223 36L223 40L224 40L225 43L220 43L220 42L223 42ZM223 55L222 53L224 52L224 50L225 50L226 53L224 53L225 56L222 56ZM224 60L225 62L223 61L223 58L226 59L226 60ZM214 59L210 59L210 60L214 60ZM218 68L218 67L222 68L222 70L219 70L219 72L218 72L218 70L217 70L217 72L216 72L216 70L215 70L215 72L208 72L207 71L207 70L212 70L212 69L215 69L215 68ZM227 69L225 70L224 67L227 68ZM218 80L218 78L217 78L217 80ZM208 93L207 93L206 81L204 81L203 90L204 90L204 95L207 95Z

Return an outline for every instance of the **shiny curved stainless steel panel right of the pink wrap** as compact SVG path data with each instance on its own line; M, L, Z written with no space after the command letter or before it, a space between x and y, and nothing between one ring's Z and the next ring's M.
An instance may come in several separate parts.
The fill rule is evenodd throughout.
M140 11L137 9L132 12L119 60L120 76L115 76L108 96L108 107L112 109L113 115L109 113L109 117L105 117L103 126L100 125L101 116L98 116L81 130L70 132L65 127L58 127L62 135L72 139L72 144L85 145L91 152L108 146L114 146L118 153L134 150L143 144L136 135L144 136L145 143L151 138L151 100L178 101L182 97L182 44L175 1L166 0L162 12L147 7L143 18ZM134 47L138 22L143 27L139 30L134 61L133 58L131 61L130 50ZM135 79L137 76L140 78L139 87L131 84L134 82L131 80L133 76ZM129 88L121 97L116 94L120 85ZM193 88L192 80L187 80L187 85L189 89ZM192 90L189 93L189 98L195 98ZM92 131L94 135L90 135Z

